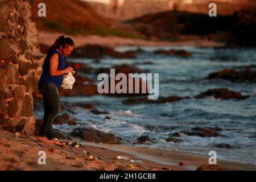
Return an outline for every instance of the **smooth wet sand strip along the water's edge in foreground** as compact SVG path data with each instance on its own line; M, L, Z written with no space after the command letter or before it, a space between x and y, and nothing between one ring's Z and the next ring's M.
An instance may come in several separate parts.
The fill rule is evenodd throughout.
M111 145L111 144L95 144L91 142L85 142L90 146L98 146L105 148L111 148L111 150L127 152L130 155L138 156L141 159L147 159L152 162L158 161L160 164L170 165L172 167L180 167L179 162L186 164L186 169L195 170L197 167L207 164L209 157L207 155L195 154L192 152L185 152L179 150L171 150L165 148L150 148L148 151L147 147L138 147L138 146L126 146L123 144L120 145ZM139 154L138 154L139 152ZM161 155L158 155L161 154ZM174 156L174 158L172 158ZM237 162L232 160L220 160L217 159L217 165L228 170L255 170L256 165L251 163Z

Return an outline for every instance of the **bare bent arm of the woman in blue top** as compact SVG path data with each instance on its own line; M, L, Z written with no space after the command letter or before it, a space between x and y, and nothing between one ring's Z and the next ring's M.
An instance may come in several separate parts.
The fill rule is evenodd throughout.
M51 76L60 76L65 73L69 73L73 71L73 68L67 67L63 70L58 70L58 64L59 64L59 56L57 53L53 54L51 56L51 59L49 60L49 75Z

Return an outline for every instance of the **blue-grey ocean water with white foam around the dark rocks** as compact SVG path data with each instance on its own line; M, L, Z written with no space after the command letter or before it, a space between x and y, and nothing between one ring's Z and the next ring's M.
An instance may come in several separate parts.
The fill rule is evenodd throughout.
M107 57L96 63L93 59L69 59L70 62L85 63L93 68L112 68L114 65L131 64L159 73L159 96L196 96L214 88L230 90L250 95L246 100L218 100L214 98L181 100L164 104L125 105L127 97L61 97L61 102L69 104L89 103L96 109L109 114L95 115L89 110L74 106L74 118L80 126L113 133L123 140L135 141L148 135L154 143L145 147L168 148L208 155L216 151L217 159L234 160L256 164L256 83L207 80L209 73L225 68L246 67L256 64L256 48L199 48L182 47L140 47L146 52L138 53L136 59L113 59ZM137 47L116 47L117 51L129 51ZM155 55L157 49L185 49L191 57ZM143 64L151 62L153 64ZM97 75L84 73L97 80ZM253 94L254 93L254 94ZM42 106L35 109L37 118L43 118ZM111 119L105 119L108 116ZM168 134L190 131L193 127L221 127L218 131L226 137L199 137L181 133L183 142L166 142ZM77 126L55 126L68 133ZM218 148L216 144L227 143L233 148Z

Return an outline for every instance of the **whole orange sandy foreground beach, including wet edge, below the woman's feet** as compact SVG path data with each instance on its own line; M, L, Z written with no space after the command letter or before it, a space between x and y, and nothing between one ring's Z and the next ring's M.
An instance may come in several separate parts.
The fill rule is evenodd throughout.
M100 156L97 160L87 160L82 151ZM46 152L46 165L38 164L38 152ZM9 154L9 155L3 155ZM36 137L16 137L13 133L0 130L0 170L135 170L135 171L174 171L195 170L208 163L208 157L187 152L160 150L156 148L133 147L116 144L85 142L83 147L57 146L42 143ZM129 156L130 159L143 160L143 164L134 164L117 156ZM185 166L179 166L179 163ZM256 165L218 160L218 166L224 170L255 170Z

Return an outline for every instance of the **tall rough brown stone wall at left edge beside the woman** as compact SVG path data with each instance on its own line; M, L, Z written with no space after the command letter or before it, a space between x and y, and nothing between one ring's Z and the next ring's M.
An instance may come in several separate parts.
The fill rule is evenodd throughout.
M34 134L32 51L27 9L0 0L0 129Z

